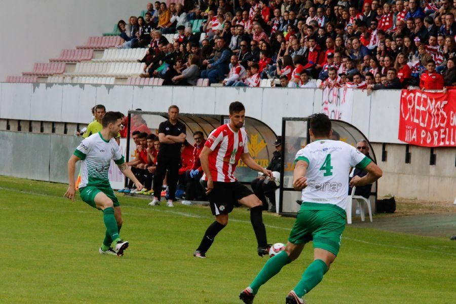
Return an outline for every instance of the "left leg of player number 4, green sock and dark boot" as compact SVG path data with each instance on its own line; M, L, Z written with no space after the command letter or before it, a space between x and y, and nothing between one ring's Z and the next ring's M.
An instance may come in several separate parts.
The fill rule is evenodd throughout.
M293 244L288 242L284 251L276 254L264 264L264 267L258 273L253 282L249 285L249 287L241 292L239 298L245 303L252 303L253 298L255 297L255 294L258 292L258 289L261 287L261 285L268 282L269 279L277 275L286 264L298 258L301 254L302 249L304 248L304 245L304 243Z

